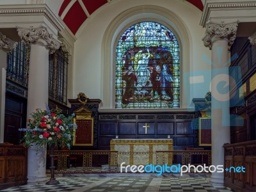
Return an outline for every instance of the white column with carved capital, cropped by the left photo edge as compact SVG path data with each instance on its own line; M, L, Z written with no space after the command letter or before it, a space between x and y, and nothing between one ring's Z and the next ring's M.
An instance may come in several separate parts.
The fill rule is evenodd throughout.
M0 33L0 143L4 142L4 113L6 88L6 52L15 49L17 43Z

